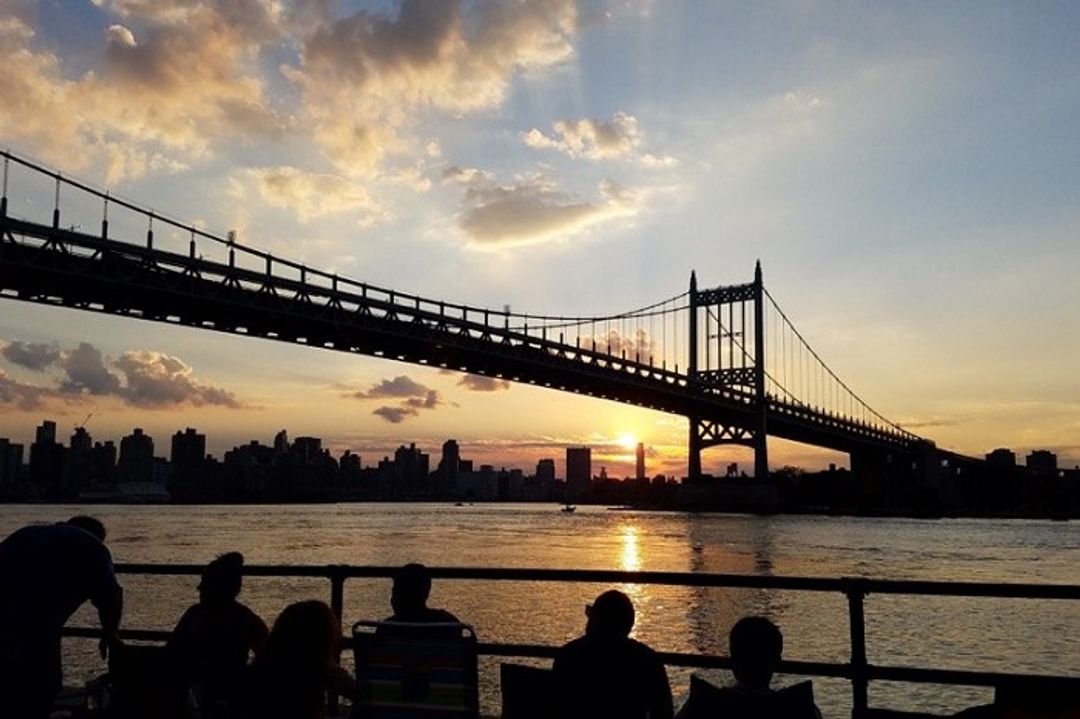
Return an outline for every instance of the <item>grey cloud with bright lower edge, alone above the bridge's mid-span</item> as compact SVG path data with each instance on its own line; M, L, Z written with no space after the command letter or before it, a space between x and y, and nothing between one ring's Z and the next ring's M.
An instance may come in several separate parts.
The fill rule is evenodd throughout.
M478 171L459 168L447 171L444 178L465 187L458 227L481 247L565 241L638 212L637 195L607 180L597 188L596 199L582 201L539 174L511 185L497 185Z

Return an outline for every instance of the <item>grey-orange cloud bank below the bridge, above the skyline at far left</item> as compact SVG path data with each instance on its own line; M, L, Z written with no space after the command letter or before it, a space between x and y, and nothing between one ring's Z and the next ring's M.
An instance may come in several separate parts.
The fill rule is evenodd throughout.
M160 352L130 351L109 361L90 342L62 350L15 341L4 345L2 355L36 371L50 368L59 371L60 376L50 385L18 383L0 372L3 378L0 404L22 409L43 406L50 399L71 402L85 395L116 397L124 404L150 409L179 405L233 409L246 406L228 390L197 380L183 360ZM33 366L27 364L28 356Z

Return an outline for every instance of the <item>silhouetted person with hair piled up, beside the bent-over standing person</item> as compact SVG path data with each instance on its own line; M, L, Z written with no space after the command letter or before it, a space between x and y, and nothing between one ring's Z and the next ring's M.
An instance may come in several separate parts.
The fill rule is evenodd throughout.
M222 554L203 570L199 603L184 612L166 645L170 665L185 687L192 687L204 717L220 713L221 705L248 655L266 643L266 622L237 601L242 584L244 555Z

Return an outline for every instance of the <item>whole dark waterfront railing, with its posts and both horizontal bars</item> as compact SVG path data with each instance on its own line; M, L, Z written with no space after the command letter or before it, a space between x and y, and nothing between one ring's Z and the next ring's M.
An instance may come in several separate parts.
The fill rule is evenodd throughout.
M121 574L147 575L194 575L203 565L163 564L119 564ZM863 578L810 578L810 576L758 576L747 574L719 574L696 572L611 571L588 569L511 569L484 567L432 567L431 574L438 580L472 580L490 582L585 582L592 584L656 584L666 586L758 588L772 591L796 591L841 594L848 600L850 660L846 663L787 661L781 663L780 671L810 677L847 679L851 682L852 711L858 719L866 714L868 686L870 681L887 680L913 683L958 684L971 687L995 687L1008 681L1023 681L1031 675L1000 671L975 671L962 669L941 669L912 666L882 666L867 660L866 622L864 600L870 594L937 596L937 597L987 597L1018 599L1063 599L1080 600L1080 585L1071 584L1018 584L993 582L939 582L919 580L880 580ZM352 566L352 565L249 565L244 567L245 576L289 576L322 578L329 581L329 605L340 618L345 609L345 584L351 579L391 579L399 567ZM94 627L68 627L65 636L99 637ZM167 632L147 629L123 629L121 636L134 640L164 641ZM351 647L351 638L342 640L342 649ZM557 647L531 643L481 642L478 650L486 656L550 659ZM661 659L670 666L730 669L728 656L693 654L687 652L661 652ZM1080 681L1080 676L1040 676L1058 681Z

